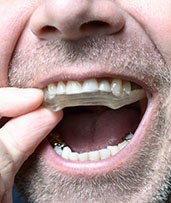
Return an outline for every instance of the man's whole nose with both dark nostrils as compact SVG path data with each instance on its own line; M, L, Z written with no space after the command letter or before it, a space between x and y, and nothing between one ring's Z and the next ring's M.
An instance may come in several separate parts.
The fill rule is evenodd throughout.
M112 35L124 25L122 10L111 0L44 0L30 19L31 31L44 40Z

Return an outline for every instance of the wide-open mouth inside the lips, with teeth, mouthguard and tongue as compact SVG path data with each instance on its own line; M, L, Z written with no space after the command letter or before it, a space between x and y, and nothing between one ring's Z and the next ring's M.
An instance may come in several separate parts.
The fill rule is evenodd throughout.
M145 90L121 79L53 83L44 105L64 110L48 140L60 160L101 162L129 145L147 108Z

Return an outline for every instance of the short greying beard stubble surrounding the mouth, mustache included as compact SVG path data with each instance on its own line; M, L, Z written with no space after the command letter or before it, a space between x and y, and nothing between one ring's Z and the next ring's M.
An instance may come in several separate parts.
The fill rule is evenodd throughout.
M67 175L50 167L38 148L23 164L15 183L28 202L166 202L171 179L170 147L170 67L158 50L147 42L132 38L87 38L77 42L39 42L16 49L10 64L9 84L16 87L36 87L36 80L53 74L68 79L69 68L80 63L93 71L95 64L113 72L143 81L157 92L158 104L154 119L148 125L148 136L131 161L98 175ZM41 71L40 71L41 69ZM84 72L84 69L82 69ZM41 85L38 85L41 87ZM42 144L43 145L43 144Z

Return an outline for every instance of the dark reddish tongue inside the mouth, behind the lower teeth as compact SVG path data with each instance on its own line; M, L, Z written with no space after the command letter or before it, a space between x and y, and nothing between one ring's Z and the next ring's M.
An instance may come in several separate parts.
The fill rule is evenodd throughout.
M139 117L138 111L125 107L83 107L66 111L57 131L72 151L94 151L122 142L127 133L135 131Z

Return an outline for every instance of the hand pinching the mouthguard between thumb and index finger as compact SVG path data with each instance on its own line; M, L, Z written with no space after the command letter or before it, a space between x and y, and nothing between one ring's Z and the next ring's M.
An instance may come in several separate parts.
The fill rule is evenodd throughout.
M0 202L12 202L14 177L62 118L40 107L43 92L38 89L0 88L0 119L11 119L0 129Z

